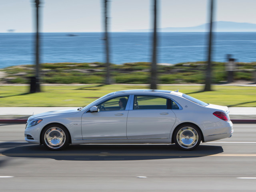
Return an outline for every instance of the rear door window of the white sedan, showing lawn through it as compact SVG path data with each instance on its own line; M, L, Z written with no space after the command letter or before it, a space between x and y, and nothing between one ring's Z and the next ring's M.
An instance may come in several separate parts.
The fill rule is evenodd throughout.
M133 109L170 109L170 99L161 96L135 95Z

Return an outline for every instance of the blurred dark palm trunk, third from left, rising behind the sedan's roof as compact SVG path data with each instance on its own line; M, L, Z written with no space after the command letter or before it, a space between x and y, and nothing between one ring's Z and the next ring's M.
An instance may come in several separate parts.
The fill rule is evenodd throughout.
M154 0L154 33L153 33L153 56L151 63L151 78L150 78L150 89L157 89L157 64L156 64L156 55L157 55L157 34L156 34L156 24L157 24L157 0Z

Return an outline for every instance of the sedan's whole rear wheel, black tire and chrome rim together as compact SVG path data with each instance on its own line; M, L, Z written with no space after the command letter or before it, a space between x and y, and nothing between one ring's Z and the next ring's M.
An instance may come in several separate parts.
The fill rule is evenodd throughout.
M174 130L174 143L182 150L193 150L201 140L201 132L194 124L182 124Z

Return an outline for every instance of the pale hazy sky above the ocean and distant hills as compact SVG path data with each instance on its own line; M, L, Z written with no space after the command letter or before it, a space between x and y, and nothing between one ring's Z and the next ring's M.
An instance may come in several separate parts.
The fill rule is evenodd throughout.
M102 0L42 0L42 32L101 32ZM208 22L209 0L158 0L159 28ZM152 0L111 0L110 31L152 28ZM215 0L215 21L256 24L256 0ZM0 32L34 32L34 0L0 0Z

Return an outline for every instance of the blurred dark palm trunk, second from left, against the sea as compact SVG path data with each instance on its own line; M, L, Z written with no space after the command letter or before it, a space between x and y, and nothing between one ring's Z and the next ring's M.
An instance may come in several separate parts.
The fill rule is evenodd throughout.
M110 85L110 63L109 63L109 43L108 43L108 0L104 0L104 19L105 19L105 49L106 49L106 84Z

